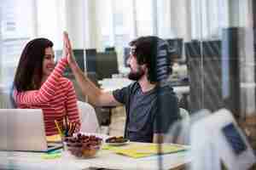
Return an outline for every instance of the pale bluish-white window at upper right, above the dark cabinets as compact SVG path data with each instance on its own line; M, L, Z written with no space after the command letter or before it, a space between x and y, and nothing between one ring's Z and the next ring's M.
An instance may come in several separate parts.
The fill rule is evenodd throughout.
M191 0L192 39L218 39L228 26L229 1Z

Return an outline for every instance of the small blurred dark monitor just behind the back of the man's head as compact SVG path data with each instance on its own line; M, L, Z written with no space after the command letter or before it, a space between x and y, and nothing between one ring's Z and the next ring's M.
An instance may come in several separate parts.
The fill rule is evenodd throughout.
M181 60L183 57L183 38L166 39L166 41L172 49L171 60Z

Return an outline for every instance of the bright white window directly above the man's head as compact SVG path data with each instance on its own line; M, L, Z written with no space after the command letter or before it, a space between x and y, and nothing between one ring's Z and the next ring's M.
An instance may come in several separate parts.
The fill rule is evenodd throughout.
M125 47L134 37L153 35L152 2L106 0L97 3L103 47Z

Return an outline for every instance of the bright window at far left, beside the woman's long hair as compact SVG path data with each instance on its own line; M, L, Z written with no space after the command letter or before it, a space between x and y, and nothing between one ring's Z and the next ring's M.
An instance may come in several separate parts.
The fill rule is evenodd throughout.
M33 36L32 0L4 0L1 12L0 84L8 87L26 42Z

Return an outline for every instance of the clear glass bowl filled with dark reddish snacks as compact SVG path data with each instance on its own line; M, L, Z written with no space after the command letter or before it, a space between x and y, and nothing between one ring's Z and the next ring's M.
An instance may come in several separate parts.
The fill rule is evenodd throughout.
M64 149L73 156L88 158L96 156L98 150L101 149L102 139L95 135L85 135L78 133L76 136L64 139Z

